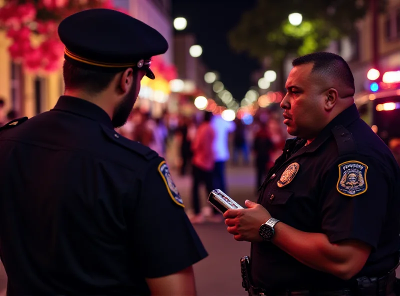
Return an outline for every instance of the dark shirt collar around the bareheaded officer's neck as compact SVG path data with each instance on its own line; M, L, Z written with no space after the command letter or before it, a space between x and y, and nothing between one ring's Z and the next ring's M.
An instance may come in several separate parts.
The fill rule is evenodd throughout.
M307 145L307 152L315 151L331 134L332 129L337 125L344 127L350 125L359 118L359 113L355 104L352 104L347 109L343 110L334 117L319 133L319 135Z

